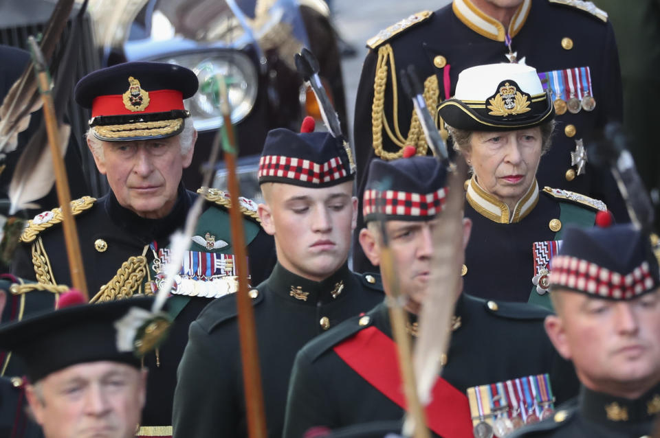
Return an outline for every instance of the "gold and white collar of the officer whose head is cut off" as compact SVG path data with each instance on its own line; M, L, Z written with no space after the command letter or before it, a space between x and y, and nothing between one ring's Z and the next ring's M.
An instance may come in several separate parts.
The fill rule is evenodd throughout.
M525 0L522 2L518 10L516 10L514 16L511 17L511 23L509 24L509 36L511 36L511 38L516 36L518 32L520 32L520 29L522 29L522 26L525 25L530 9L531 0ZM474 30L474 32L495 41L505 41L506 32L504 25L492 18L492 16L484 14L472 4L472 1L454 0L452 10L459 20L461 20L467 27ZM470 13L464 14L462 10L468 10ZM470 16L471 14L474 14L478 19L474 19L474 16ZM480 21L482 22L480 23ZM491 26L491 28L488 26ZM496 32L493 32L492 28L496 29Z

